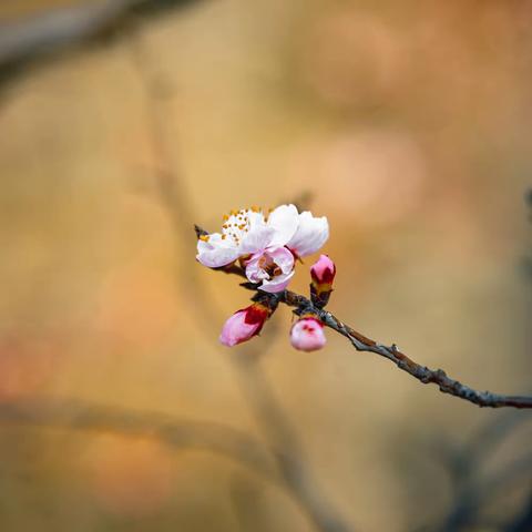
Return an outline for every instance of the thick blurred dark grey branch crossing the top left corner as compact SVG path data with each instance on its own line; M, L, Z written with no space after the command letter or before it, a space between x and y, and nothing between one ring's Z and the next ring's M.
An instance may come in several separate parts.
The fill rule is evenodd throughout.
M143 19L198 0L101 0L0 21L0 88L59 53L122 34Z

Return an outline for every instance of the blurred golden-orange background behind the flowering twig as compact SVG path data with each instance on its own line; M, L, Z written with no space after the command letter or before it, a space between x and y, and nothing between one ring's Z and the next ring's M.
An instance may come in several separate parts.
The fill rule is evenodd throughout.
M331 311L473 388L530 392L532 2L111 3L0 3L2 531L317 530L237 459L76 427L82 401L272 443L234 369L257 354L216 344L249 293L194 257L193 224L231 208L309 193ZM256 371L348 530L532 530L530 413L332 331L295 351L290 320L254 340ZM9 415L49 400L73 401L60 427Z

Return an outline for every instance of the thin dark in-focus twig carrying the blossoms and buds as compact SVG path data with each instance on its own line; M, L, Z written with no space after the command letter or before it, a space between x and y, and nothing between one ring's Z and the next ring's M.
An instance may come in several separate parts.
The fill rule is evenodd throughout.
M200 231L202 229L200 228ZM232 266L227 273L245 277L245 273L242 269L238 269L239 268ZM257 290L256 285L249 283L243 283L241 286L250 290ZM473 402L479 407L532 408L531 396L502 396L491 391L477 391L458 380L451 379L442 369L429 369L427 366L421 366L401 352L395 344L392 344L390 347L387 347L370 338L367 338L360 332L357 332L352 327L349 327L340 321L328 310L324 310L314 306L313 303L305 296L290 290L284 290L277 295L273 295L272 297L277 298L278 303L284 303L289 307L296 308L297 314L315 314L327 327L330 327L341 336L345 336L352 344L355 349L357 349L357 351L375 352L376 355L392 361L399 369L402 369L407 374L411 375L423 385L438 385L440 391L443 393L449 393L460 399L464 399L466 401Z

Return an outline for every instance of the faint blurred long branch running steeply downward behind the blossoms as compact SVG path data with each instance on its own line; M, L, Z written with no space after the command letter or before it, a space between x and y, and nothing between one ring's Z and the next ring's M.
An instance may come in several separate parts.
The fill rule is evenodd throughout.
M153 61L151 61L141 34L132 33L131 49L145 95L149 132L152 140L152 150L157 162L154 176L161 202L166 207L172 221L176 250L184 243L185 256L194 257L196 254L195 242L190 234L194 219L193 201L186 190L183 176L176 170L177 165L171 156L172 152L166 145L167 135L164 124L168 113L164 103L166 95L172 91L165 79L151 71L150 65L153 64ZM303 194L297 201L304 204L309 201L309 195ZM178 256L176 253L176 257ZM176 265L180 264L183 264L183 260L176 260ZM188 308L195 313L198 324L219 321L221 314L214 307L213 298L198 280L196 272L197 268L190 267L184 262L176 275L178 289L181 293L187 294ZM268 339L273 341L275 335L269 334ZM231 361L235 370L246 405L268 441L283 482L294 500L305 511L317 530L348 532L352 529L339 516L327 497L318 488L318 480L310 473L308 459L305 456L297 431L278 402L259 366L259 360L268 345L268 342L263 341L262 344L243 346L243 349L236 356L228 356L224 349L224 356ZM219 344L216 344L216 347L221 348Z

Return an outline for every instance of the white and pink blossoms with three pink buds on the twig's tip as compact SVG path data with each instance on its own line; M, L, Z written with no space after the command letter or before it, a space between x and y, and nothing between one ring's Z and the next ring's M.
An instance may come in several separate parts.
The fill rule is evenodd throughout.
M268 212L259 207L232 211L224 216L221 233L201 234L196 256L201 264L216 269L242 268L258 290L253 305L227 319L221 342L233 347L257 336L294 277L296 263L318 252L328 237L325 216L299 213L295 205ZM336 267L327 255L310 268L310 295L317 308L327 304L335 274ZM305 351L321 348L326 342L324 324L313 313L301 314L291 327L290 341Z

